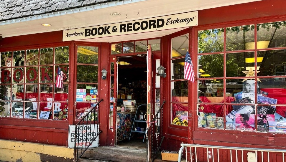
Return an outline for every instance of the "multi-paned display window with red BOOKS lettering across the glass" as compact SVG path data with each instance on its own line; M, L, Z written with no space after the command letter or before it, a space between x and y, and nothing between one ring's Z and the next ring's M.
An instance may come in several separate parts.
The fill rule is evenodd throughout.
M68 119L68 46L1 52L0 62L1 117Z

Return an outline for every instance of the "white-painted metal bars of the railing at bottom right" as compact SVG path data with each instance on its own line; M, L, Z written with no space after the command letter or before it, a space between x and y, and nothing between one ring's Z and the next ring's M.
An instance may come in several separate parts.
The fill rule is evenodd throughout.
M178 155L178 162L181 162L181 159L182 159L182 153L183 153L183 150L185 148L185 156L186 156L186 159L188 159L188 153L187 153L187 148L190 148L190 160L191 162L193 161L193 157L191 157L193 154L195 155L195 161L198 161L198 158L197 158L197 148L207 148L207 155L209 155L209 151L208 149L211 149L211 152L212 152L212 156L214 155L213 151L214 149L217 150L217 155L218 155L218 159L217 161L219 162L219 149L223 149L223 150L230 150L229 153L230 153L230 157L231 157L231 161L232 161L232 150L235 150L236 153L235 153L235 157L236 157L236 162L238 162L238 154L237 154L237 151L241 151L241 156L242 158L242 161L243 161L243 151L255 151L255 157L256 157L256 161L257 158L259 158L257 156L257 152L261 152L261 161L263 162L263 153L264 152L267 152L267 156L268 156L268 162L270 160L269 158L269 153L270 152L277 152L277 153L282 153L282 159L283 159L283 162L285 162L285 158L284 158L284 154L286 153L286 150L282 150L282 149L266 149L266 148L243 148L243 147L228 147L228 146L212 146L212 145L200 145L200 144L185 144L185 143L182 143L181 144L181 148L179 150L179 155ZM195 148L195 152L193 153L192 152L192 149L191 148ZM213 156L213 161L214 161L214 156Z

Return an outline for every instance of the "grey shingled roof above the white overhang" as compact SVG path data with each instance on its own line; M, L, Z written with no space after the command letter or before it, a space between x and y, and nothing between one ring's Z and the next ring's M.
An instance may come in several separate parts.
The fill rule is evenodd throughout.
M0 21L112 1L116 0L0 0Z

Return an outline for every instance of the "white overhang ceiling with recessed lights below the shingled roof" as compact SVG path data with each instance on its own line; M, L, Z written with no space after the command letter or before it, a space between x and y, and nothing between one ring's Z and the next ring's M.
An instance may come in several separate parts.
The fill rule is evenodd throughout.
M260 0L129 0L116 1L101 5L86 6L78 9L59 11L45 15L37 15L14 19L0 24L0 34L2 37L13 37L19 35L45 33L76 29L82 27L92 27L133 20L148 19L157 16L179 14L183 12L198 11L220 6L229 6ZM112 12L118 12L120 16L112 16ZM42 24L51 24L44 27ZM121 35L114 37L102 37L95 39L85 39L78 41L88 42L119 42L136 39L148 39L162 37L179 29L169 29L156 32Z

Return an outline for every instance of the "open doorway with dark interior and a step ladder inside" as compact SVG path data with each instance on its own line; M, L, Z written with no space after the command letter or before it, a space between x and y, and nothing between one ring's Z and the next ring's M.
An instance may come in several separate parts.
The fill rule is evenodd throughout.
M146 60L146 54L117 60L116 146L146 149Z

